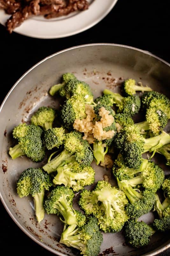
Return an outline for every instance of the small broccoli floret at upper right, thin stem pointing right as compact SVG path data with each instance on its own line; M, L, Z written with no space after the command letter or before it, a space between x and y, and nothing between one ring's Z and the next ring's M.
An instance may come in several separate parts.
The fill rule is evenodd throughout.
M136 81L131 78L125 80L122 87L123 87L123 91L124 91L125 95L133 95L137 91L140 91L140 92L151 92L152 91L152 89L150 87L136 85Z

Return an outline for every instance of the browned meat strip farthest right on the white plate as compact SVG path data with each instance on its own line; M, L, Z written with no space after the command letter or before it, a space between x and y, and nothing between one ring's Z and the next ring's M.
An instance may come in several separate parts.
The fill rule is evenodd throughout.
M46 14L45 18L50 19L50 18L55 18L63 15L68 15L69 13L74 11L84 11L89 7L89 3L86 0L77 0L74 2L73 0L71 1L72 3L69 2L69 4L66 7L61 7L55 12Z

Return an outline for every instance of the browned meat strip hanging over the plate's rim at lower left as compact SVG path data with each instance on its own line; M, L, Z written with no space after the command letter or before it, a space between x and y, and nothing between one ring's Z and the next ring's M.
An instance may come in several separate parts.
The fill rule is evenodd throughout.
M21 25L24 20L32 17L33 15L39 15L39 2L40 0L32 0L23 9L15 12L6 22L7 30L12 33L12 30Z

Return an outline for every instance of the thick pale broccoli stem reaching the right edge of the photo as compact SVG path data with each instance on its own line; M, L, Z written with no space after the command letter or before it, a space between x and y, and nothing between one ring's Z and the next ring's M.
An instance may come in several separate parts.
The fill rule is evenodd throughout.
M149 139L144 139L144 151L143 153L147 151L154 151L157 148L161 148L163 145L170 143L170 135L166 132L162 132L160 135L151 137Z

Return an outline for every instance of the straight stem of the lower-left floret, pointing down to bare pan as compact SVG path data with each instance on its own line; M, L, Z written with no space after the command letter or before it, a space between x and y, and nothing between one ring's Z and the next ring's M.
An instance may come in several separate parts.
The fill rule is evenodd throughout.
M44 189L42 189L40 193L35 194L35 196L33 196L33 199L34 199L35 215L38 222L40 222L41 220L44 219L44 214L45 214L45 210L43 207Z

